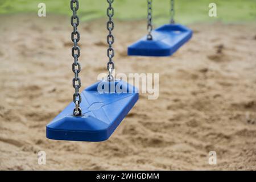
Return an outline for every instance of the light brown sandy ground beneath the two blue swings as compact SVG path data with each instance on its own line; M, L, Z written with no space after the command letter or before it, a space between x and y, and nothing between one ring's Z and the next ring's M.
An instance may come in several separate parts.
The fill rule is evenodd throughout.
M146 22L117 21L117 73L159 73L159 98L141 94L109 140L88 143L45 137L72 100L69 18L0 19L0 169L256 169L255 24L191 24L191 41L159 58L126 56ZM105 28L79 26L83 88L105 72Z

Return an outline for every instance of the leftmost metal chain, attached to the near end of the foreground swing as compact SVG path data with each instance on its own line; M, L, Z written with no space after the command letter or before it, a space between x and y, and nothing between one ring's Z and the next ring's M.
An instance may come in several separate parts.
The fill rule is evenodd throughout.
M74 43L72 47L72 56L74 57L74 63L72 64L72 71L75 73L75 77L72 80L73 88L75 88L75 93L73 94L73 102L75 103L75 109L73 110L73 115L78 116L81 115L82 110L80 108L80 103L82 101L81 94L79 93L79 89L81 87L81 79L79 78L79 73L81 72L81 65L78 61L80 56L80 47L77 46L77 43L80 40L79 31L77 31L77 27L79 26L79 16L77 16L77 10L79 10L79 1L71 0L70 7L73 11L73 15L71 16L71 25L73 26L73 32L71 33L71 40Z

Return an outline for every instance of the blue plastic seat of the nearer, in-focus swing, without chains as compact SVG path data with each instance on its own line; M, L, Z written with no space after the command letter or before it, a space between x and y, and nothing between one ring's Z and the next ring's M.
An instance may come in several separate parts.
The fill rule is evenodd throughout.
M103 85L103 86L102 86ZM108 88L106 87L108 86ZM98 92L114 89L112 92ZM119 123L129 113L139 98L138 89L122 80L100 81L81 93L82 115L73 116L75 104L69 104L46 126L46 137L56 140L100 142L112 135Z

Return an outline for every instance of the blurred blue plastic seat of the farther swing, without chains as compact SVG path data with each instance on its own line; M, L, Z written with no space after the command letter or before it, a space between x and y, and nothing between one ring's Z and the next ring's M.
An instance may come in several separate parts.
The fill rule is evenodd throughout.
M129 56L171 56L192 37L192 30L181 24L165 24L128 47Z

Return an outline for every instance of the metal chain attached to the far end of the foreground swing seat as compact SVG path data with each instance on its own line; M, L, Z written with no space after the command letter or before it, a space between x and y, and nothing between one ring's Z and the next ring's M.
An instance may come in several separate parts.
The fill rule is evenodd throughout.
M114 76L112 75L113 70L115 69L115 64L112 61L113 57L114 57L114 49L112 47L113 43L114 43L114 36L112 34L112 31L114 30L114 22L113 22L113 16L114 16L114 9L112 7L112 3L114 2L114 0L107 0L107 2L109 3L109 7L107 8L106 14L109 17L109 20L106 24L107 30L109 31L109 34L107 36L107 43L109 44L109 48L107 49L107 56L109 57L109 62L107 64L107 69L108 69L108 81L113 81L114 80ZM111 67L110 67L111 65Z

